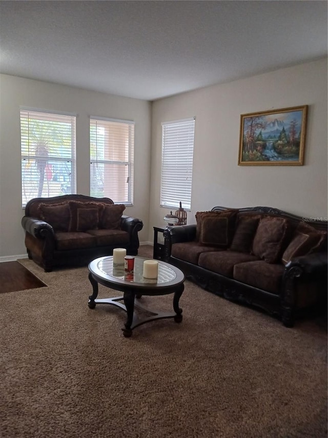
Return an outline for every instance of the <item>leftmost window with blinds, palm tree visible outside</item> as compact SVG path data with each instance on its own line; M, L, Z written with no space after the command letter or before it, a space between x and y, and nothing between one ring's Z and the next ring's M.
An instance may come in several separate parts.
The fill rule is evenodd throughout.
M75 193L76 116L20 110L22 205Z

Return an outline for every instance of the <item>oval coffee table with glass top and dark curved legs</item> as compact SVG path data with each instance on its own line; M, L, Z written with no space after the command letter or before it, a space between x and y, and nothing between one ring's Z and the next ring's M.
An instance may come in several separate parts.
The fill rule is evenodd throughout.
M182 309L179 308L179 299L182 295L185 275L175 266L158 260L158 278L148 279L142 276L144 270L144 257L135 257L133 272L126 272L124 264L113 265L113 257L99 257L89 263L89 280L92 284L93 294L89 296L88 306L94 309L96 304L111 304L127 312L127 322L122 329L125 337L132 335L132 330L155 319L174 318L175 322L182 321ZM98 284L123 292L122 296L113 298L96 299ZM142 295L168 295L173 296L174 312L156 312L142 305L139 301ZM119 302L124 301L124 303ZM149 316L140 318L134 308L145 311Z

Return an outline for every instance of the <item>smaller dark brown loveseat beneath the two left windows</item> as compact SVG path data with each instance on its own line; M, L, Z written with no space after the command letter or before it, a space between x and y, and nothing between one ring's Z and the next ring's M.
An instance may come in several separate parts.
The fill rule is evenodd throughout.
M46 272L56 266L86 265L117 247L137 255L142 221L123 215L110 198L63 195L31 199L22 226L27 254Z

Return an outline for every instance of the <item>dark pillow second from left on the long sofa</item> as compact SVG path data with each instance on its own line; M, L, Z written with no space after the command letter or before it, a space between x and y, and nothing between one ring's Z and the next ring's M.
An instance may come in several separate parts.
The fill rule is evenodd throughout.
M237 221L234 237L231 242L230 251L240 253L251 253L253 239L256 233L260 218L240 216Z

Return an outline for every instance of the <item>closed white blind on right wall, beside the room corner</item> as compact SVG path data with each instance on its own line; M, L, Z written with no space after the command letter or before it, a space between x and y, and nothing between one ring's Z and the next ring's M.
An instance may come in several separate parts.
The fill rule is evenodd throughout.
M162 123L160 205L191 208L195 118Z

